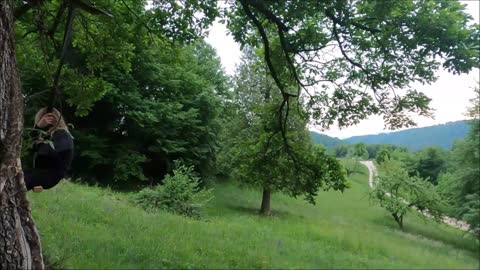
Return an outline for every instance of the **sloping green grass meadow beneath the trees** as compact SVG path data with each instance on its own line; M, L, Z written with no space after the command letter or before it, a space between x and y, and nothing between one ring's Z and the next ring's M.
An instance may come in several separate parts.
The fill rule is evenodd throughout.
M45 254L64 268L478 269L479 244L410 213L405 231L368 200L367 171L317 205L275 194L259 217L261 192L225 183L202 220L147 213L128 194L64 182L29 193Z

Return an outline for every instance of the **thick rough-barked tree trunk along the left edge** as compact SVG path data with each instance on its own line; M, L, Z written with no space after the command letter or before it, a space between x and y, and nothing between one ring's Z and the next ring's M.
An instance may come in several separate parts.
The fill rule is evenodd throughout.
M0 269L43 269L20 163L23 98L15 61L12 0L0 0Z

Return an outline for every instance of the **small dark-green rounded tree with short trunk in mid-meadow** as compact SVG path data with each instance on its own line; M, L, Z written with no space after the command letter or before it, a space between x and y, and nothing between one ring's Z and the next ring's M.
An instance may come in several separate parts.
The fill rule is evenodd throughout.
M291 132L289 140L295 144L294 156L282 150L280 136L264 132L260 138L246 138L238 144L234 162L234 176L242 183L263 190L260 213L270 214L271 193L280 191L292 197L305 196L315 204L320 189L347 188L344 170L335 158L327 156L325 149L308 142L307 132ZM269 139L272 137L272 139Z

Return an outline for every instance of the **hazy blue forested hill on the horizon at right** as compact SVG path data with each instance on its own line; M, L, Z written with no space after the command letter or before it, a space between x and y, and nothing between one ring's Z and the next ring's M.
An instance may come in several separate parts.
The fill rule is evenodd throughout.
M452 147L454 141L464 138L469 129L468 121L456 121L377 135L354 136L344 139L344 141L349 143L395 144L405 146L410 151L420 150L432 145L448 150Z

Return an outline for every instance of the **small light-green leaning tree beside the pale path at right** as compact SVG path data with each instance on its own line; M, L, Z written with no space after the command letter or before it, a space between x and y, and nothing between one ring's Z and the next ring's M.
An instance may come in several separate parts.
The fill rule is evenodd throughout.
M390 212L401 229L411 209L418 209L435 220L442 217L442 199L434 186L418 176L409 176L399 162L382 163L376 183L370 199Z

